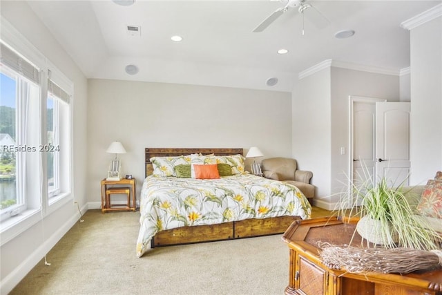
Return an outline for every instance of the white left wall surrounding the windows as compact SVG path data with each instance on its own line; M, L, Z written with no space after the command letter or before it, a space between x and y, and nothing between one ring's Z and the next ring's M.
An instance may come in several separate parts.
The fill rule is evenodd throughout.
M73 198L80 207L86 206L86 113L87 81L63 48L50 35L25 1L1 1L2 17L15 26L52 64L74 82L73 98ZM23 21L26 19L26 21ZM55 245L79 218L73 202L68 202L42 222L1 246L1 294L6 294ZM45 238L41 226L44 225ZM56 261L52 261L57 264Z

